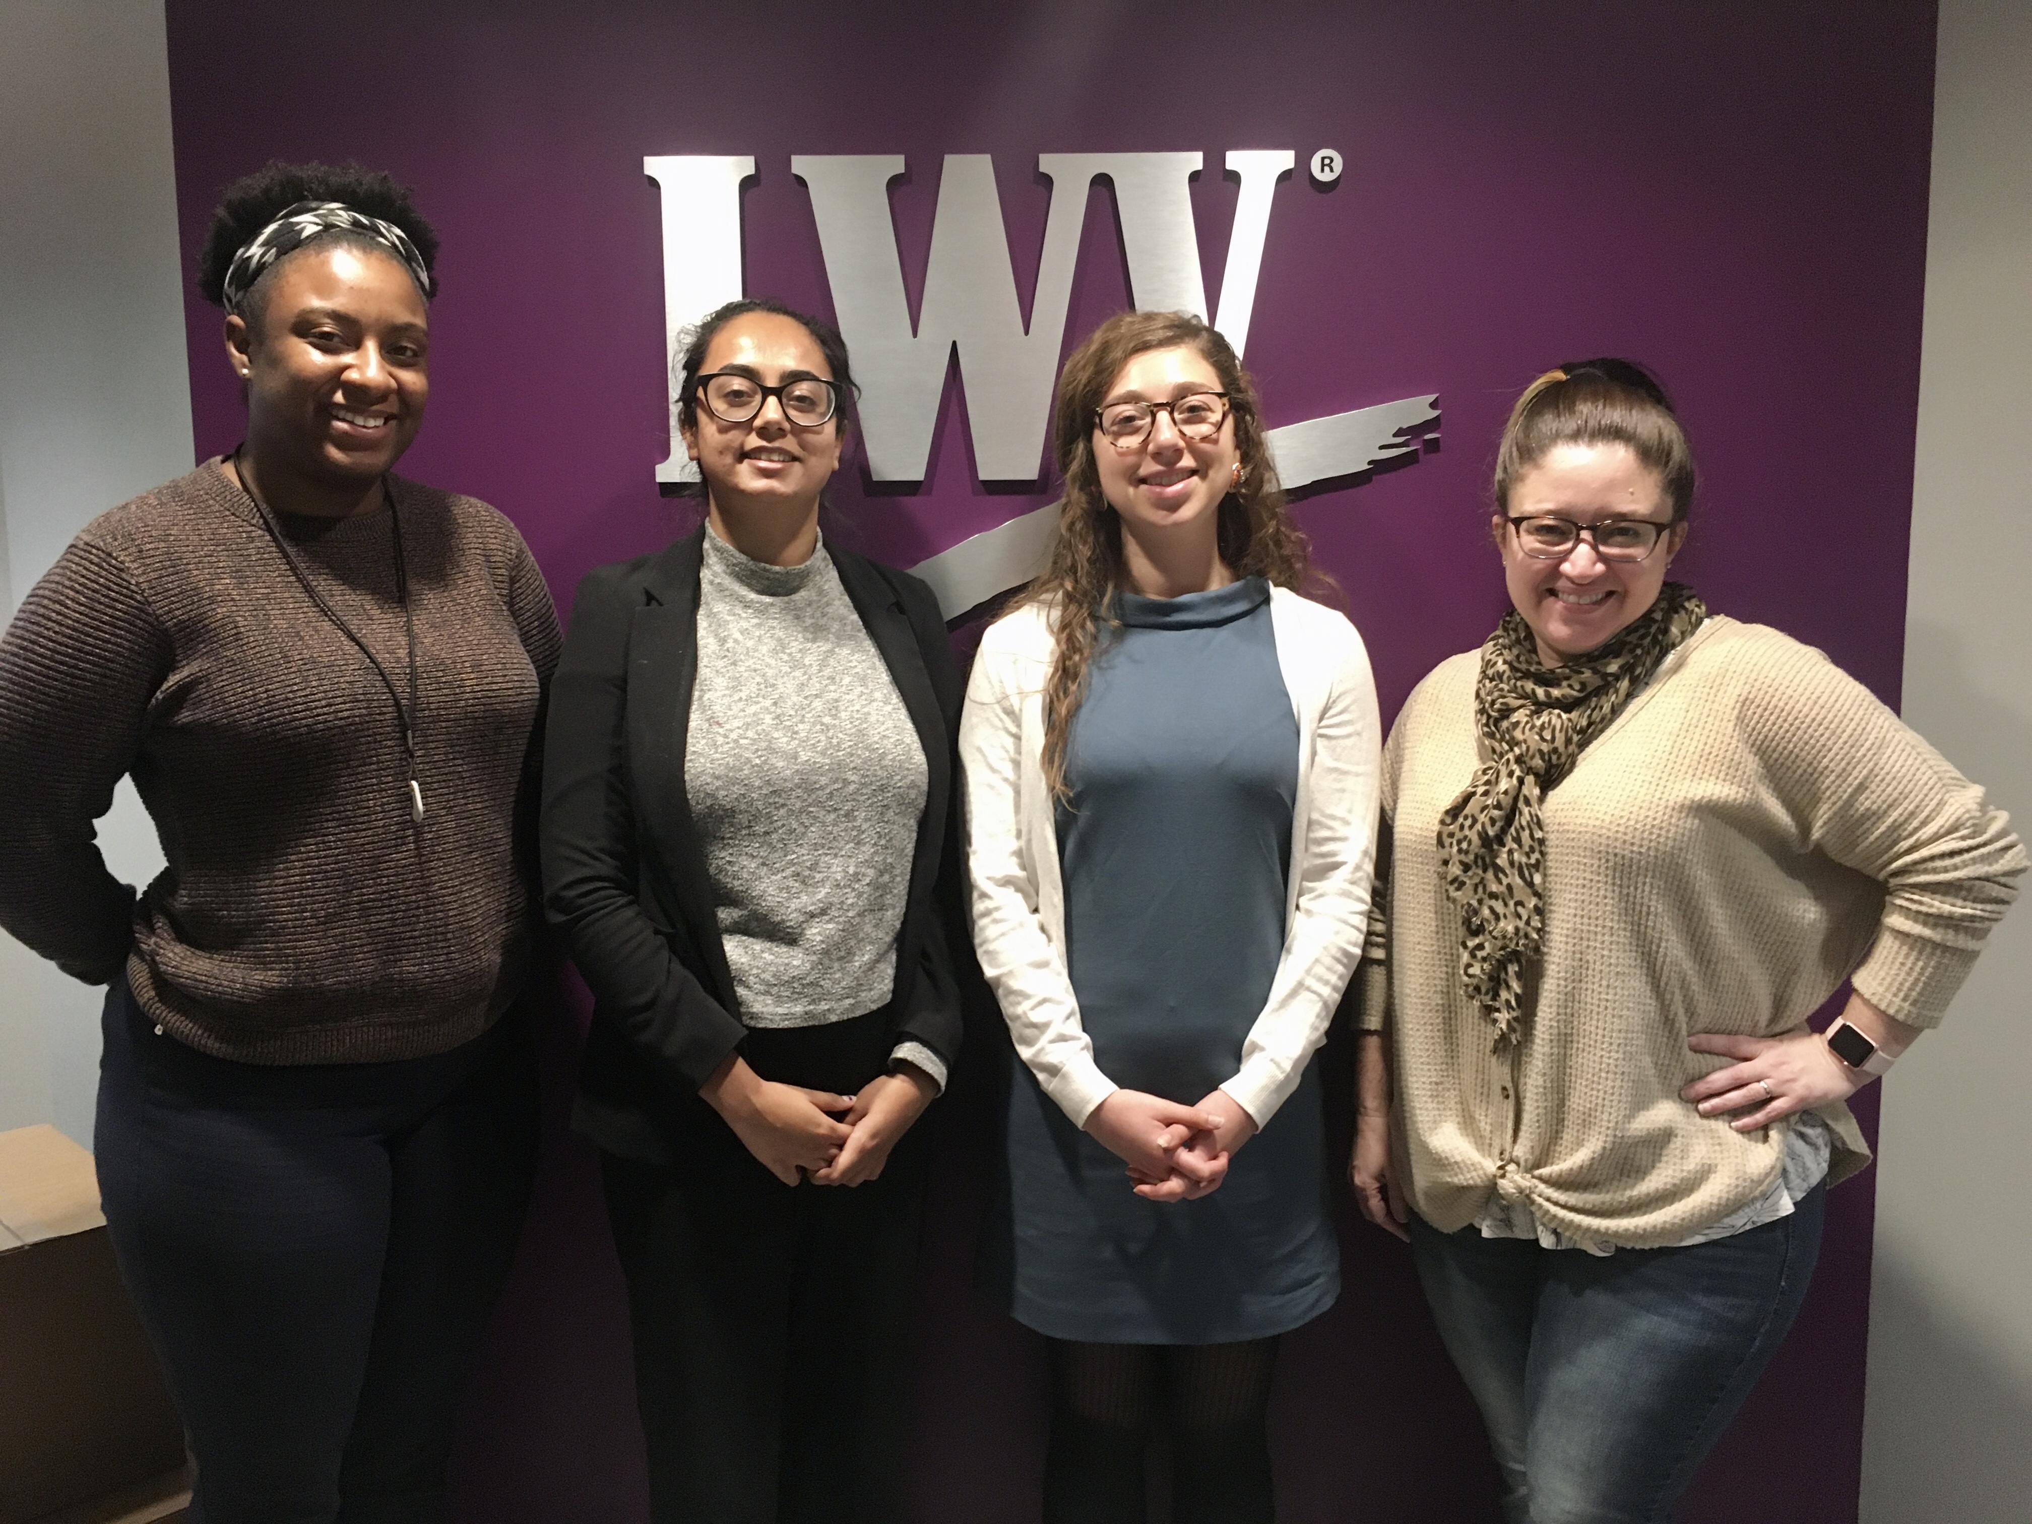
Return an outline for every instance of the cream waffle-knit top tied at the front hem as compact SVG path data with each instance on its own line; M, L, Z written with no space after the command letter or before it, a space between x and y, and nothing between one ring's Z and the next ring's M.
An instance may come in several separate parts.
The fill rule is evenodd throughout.
M1713 618L1544 801L1544 961L1498 1057L1459 986L1437 845L1481 760L1477 669L1465 652L1433 671L1384 752L1394 862L1361 1024L1390 1036L1394 1168L1443 1231L1500 1191L1577 1240L1680 1242L1760 1197L1784 1144L1784 1124L1739 1134L1678 1099L1727 1063L1687 1038L1794 1030L1843 977L1934 1026L2026 855L1827 656ZM1869 1152L1845 1105L1821 1116L1839 1181Z

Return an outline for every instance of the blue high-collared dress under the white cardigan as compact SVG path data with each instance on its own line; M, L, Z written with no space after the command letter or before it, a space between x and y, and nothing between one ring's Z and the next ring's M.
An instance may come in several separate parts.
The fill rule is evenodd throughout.
M1284 947L1298 723L1270 587L1122 595L1059 809L1073 992L1109 1079L1195 1103L1242 1067ZM990 1246L1010 1313L1055 1339L1229 1343L1339 1294L1313 1069L1209 1197L1154 1203L1022 1065ZM1000 1254L996 1250L1000 1248ZM996 1274L1000 1260L1000 1274Z

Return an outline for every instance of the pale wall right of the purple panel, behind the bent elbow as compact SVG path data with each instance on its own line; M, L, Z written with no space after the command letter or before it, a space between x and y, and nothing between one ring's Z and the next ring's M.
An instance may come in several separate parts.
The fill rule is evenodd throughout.
M2032 4L1943 0L1904 713L2032 833ZM1884 1083L1863 1524L2032 1518L2032 904Z

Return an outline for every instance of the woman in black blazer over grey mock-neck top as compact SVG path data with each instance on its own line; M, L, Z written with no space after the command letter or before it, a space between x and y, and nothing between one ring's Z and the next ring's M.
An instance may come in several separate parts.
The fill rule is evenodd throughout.
M825 545L853 394L825 323L729 303L683 360L705 524L579 583L545 904L593 990L658 1524L900 1518L925 1185L959 1046L959 675L931 591Z

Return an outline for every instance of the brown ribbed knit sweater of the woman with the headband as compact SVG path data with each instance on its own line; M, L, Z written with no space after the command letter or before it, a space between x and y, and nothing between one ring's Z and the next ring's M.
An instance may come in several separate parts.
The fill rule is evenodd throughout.
M557 616L498 512L394 498L421 825L386 687L217 461L85 526L0 636L0 925L221 1059L443 1053L526 975ZM388 510L280 522L406 697ZM128 772L169 862L138 902L91 829Z

